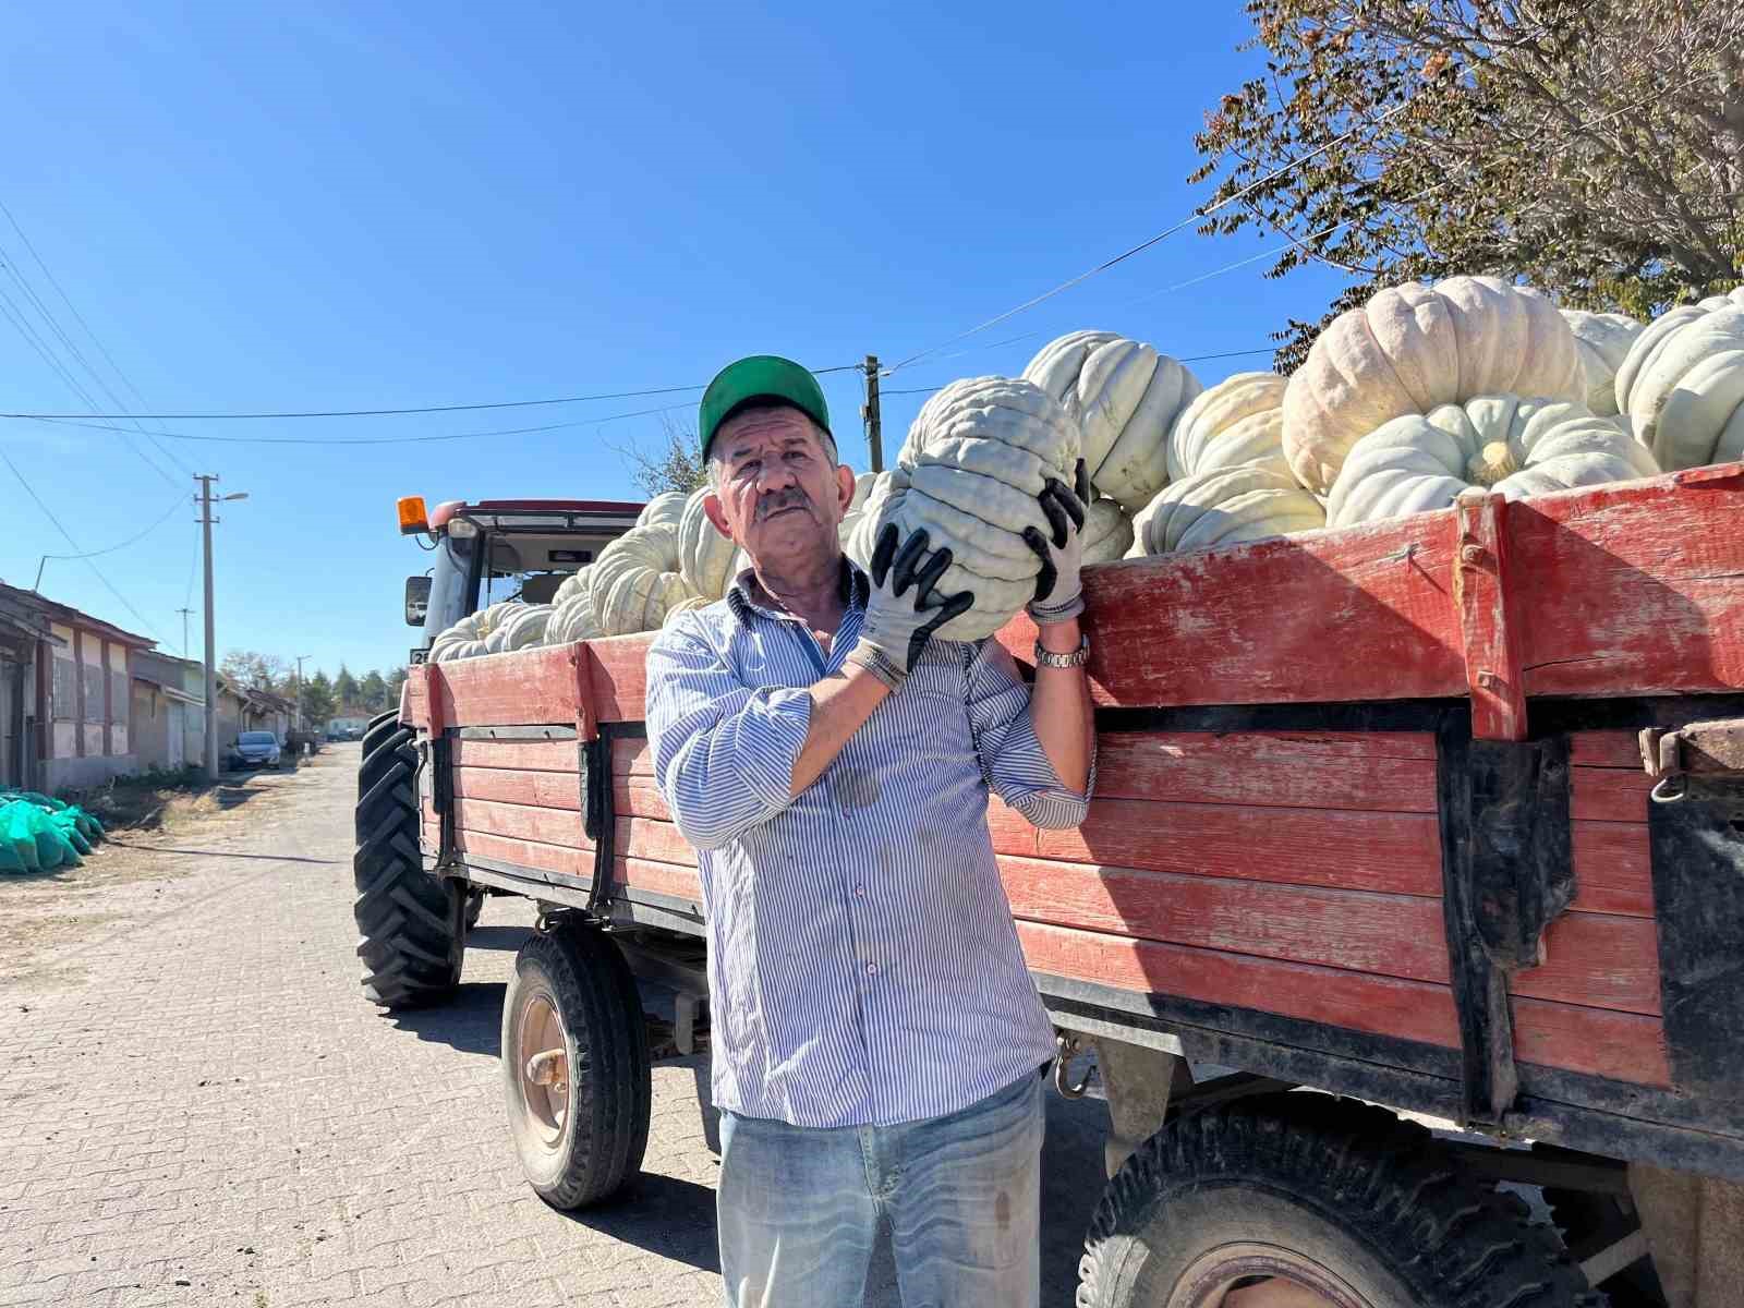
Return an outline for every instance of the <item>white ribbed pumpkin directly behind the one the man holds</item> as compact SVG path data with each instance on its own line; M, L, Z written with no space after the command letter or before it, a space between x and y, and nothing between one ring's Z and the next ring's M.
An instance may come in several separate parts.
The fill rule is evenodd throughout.
M1092 488L1128 513L1144 508L1168 480L1168 427L1203 389L1184 364L1113 331L1050 340L1024 378L1076 419Z

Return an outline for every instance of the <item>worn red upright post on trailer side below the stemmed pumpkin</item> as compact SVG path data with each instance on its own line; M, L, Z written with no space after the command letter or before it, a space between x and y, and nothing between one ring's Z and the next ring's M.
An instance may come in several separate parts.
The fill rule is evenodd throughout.
M1453 502L1453 605L1465 644L1474 739L1526 739L1526 685L1509 612L1507 501L1470 487Z

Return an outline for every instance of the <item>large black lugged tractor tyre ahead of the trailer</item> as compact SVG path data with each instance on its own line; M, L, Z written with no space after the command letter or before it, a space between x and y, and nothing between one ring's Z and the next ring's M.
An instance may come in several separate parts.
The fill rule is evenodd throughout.
M358 767L358 957L363 992L384 1008L438 1003L460 984L466 928L460 888L424 870L413 732L375 719Z

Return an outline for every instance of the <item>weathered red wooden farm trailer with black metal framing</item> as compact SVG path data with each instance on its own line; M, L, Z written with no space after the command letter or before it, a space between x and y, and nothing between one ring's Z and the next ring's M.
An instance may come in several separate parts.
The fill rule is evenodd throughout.
M1500 1163L1449 1149L1465 1177L1613 1200L1629 1162L1744 1181L1744 466L1474 494L1085 586L1090 816L1045 832L992 800L989 825L1066 1048L1097 1041L1127 1095L1111 1160L1151 1141L1128 1167L1155 1167L1165 1116L1359 1121L1308 1123L1313 1097L1271 1093L1313 1087L1538 1142ZM1034 631L998 638L1022 661ZM466 886L534 896L607 956L614 994L633 992L621 959L694 994L701 893L651 773L647 645L426 664L384 729L394 759L417 750L412 837L450 905ZM516 1073L525 1048L508 1043L511 1102L555 1085L549 1064ZM1181 1055L1238 1074L1195 1087ZM633 1170L614 1158L586 1196ZM1097 1240L1155 1236L1116 1191L1090 1280ZM1639 1252L1601 1235L1596 1256ZM1214 1273L1236 1284L1191 1275ZM1085 1303L1128 1301L1109 1275ZM1289 1275L1343 1303L1332 1271Z

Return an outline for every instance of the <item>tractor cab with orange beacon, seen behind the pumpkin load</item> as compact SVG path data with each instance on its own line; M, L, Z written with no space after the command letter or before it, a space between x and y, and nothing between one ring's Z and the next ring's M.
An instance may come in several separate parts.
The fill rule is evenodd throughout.
M406 577L406 624L424 628L412 661L424 661L439 631L492 603L549 603L638 513L642 504L609 499L448 501L429 513L420 495L399 501L401 535L422 537L434 555L422 576Z

